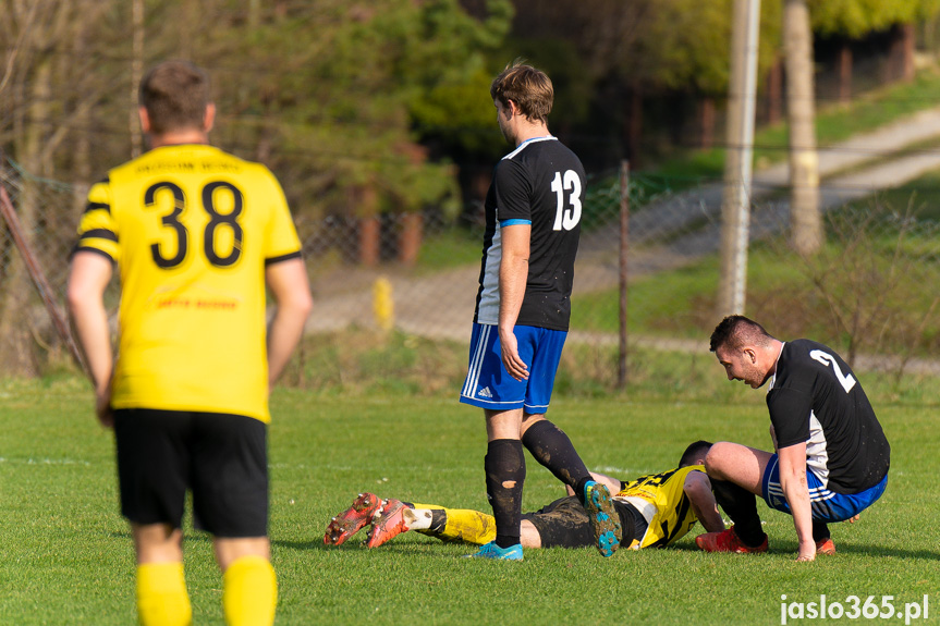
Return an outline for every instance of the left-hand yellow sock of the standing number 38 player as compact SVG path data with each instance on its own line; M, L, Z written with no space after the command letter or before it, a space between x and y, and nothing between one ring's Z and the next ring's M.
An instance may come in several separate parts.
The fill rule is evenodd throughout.
M137 566L137 618L143 626L186 626L193 609L182 563Z

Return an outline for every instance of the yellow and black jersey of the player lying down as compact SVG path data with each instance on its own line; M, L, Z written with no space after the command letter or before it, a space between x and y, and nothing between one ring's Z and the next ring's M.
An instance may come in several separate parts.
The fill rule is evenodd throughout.
M614 495L614 499L632 504L649 524L643 539L634 539L631 548L664 548L695 526L698 518L684 489L685 478L691 471L705 471L705 467L689 465L642 476L624 484Z

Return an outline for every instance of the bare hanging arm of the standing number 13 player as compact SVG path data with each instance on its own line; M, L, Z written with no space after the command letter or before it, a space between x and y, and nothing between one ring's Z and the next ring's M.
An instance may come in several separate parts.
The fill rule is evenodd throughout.
M532 224L500 228L502 259L499 266L499 342L505 370L516 380L528 378L528 366L518 356L513 330L528 282L528 255Z

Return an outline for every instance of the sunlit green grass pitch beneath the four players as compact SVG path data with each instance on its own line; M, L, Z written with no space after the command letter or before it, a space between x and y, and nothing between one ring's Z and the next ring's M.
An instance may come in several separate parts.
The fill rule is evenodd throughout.
M717 365L710 373L721 376ZM940 616L932 398L875 398L892 443L888 491L858 524L833 528L838 555L811 564L794 562L791 519L762 503L771 542L757 556L698 552L695 530L674 549L608 560L593 549L552 549L527 551L523 563L481 563L461 559L472 548L416 533L373 551L356 539L325 548L330 516L362 491L488 511L481 416L452 395L276 392L278 624L780 624L782 594L788 602L826 594L830 603L875 596L879 606L893 596L898 610L927 594L930 621ZM134 623L134 564L118 513L112 439L90 414L90 392L71 377L0 382L0 624ZM559 397L551 417L589 466L619 477L669 468L699 438L767 446L762 393L731 383L724 402ZM529 459L526 510L561 491ZM195 623L221 624L207 536L187 528L185 548Z

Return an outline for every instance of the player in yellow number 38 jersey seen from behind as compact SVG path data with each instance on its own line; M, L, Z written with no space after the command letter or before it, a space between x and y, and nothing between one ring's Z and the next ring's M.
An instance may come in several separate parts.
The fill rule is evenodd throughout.
M142 81L149 151L91 187L69 309L113 427L121 512L145 625L192 621L182 564L186 491L213 536L228 624L271 624L268 392L313 306L283 192L264 165L209 145L208 75L183 61ZM103 304L121 278L118 357ZM266 286L277 305L266 329Z

